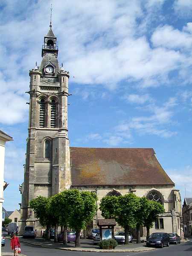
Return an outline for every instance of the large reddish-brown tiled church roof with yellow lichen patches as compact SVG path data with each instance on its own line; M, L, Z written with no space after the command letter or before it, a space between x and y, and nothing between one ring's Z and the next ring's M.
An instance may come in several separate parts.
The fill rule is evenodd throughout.
M153 148L70 147L72 186L173 185Z

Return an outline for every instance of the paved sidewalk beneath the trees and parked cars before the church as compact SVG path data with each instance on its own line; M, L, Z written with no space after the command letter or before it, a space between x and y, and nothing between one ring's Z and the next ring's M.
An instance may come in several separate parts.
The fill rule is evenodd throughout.
M6 239L10 239L9 236ZM35 239L23 239L22 236L19 236L19 240L21 243L32 244L35 246L41 246L51 249L59 249L59 250L70 250L70 251L86 251L86 252L141 252L148 250L155 250L155 248L146 247L146 243L136 244L136 241L133 243L129 243L129 245L118 244L114 250L105 250L100 249L98 245L93 244L93 240L90 239L81 239L81 247L76 248L74 242L67 243L64 245L62 243L54 243L53 239L50 241L45 241L44 238L35 238Z

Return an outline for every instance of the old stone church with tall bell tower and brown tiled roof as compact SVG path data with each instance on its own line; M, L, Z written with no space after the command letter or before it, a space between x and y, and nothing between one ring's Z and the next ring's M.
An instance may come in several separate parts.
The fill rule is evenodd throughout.
M50 197L65 189L95 192L100 200L106 195L134 193L163 204L150 232L175 232L182 237L181 197L174 182L157 160L153 148L80 148L70 147L67 135L67 98L70 73L58 64L57 38L52 31L44 37L42 61L29 71L29 128L19 232L33 225L37 235L42 227L29 207L38 195ZM102 218L98 210L92 227ZM145 229L141 235L146 236Z

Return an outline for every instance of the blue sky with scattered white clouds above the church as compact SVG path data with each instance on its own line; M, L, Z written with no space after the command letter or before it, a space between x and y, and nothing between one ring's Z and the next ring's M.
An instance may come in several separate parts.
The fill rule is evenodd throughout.
M3 206L19 209L29 116L29 70L49 30L70 72L70 146L154 148L192 197L192 1L1 0L0 129Z

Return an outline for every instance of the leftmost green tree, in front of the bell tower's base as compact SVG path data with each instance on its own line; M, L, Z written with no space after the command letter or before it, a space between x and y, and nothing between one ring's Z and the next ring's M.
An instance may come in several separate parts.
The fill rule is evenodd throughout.
M29 202L29 206L34 210L39 223L46 226L47 234L46 239L49 239L49 229L54 224L53 216L47 211L49 198L39 195Z

